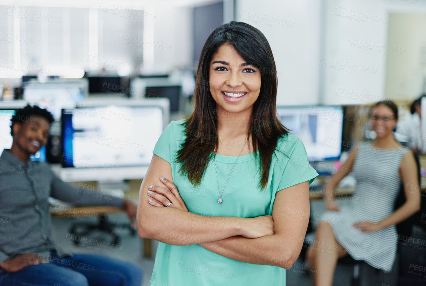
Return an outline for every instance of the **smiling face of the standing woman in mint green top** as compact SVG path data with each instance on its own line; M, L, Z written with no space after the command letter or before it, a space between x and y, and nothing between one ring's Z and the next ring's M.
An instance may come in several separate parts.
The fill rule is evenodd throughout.
M259 97L261 74L230 44L219 47L210 61L210 93L219 111L249 111Z

